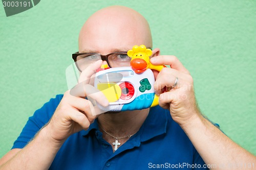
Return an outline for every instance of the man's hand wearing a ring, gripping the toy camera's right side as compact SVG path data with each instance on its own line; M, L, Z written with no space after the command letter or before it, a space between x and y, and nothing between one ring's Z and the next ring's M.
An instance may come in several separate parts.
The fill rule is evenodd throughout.
M156 56L151 58L154 65L170 65L163 68L156 77L154 89L159 95L159 105L168 109L181 127L185 126L189 119L200 114L195 98L193 78L189 71L175 56ZM175 82L178 82L176 86ZM167 92L163 89L167 87Z

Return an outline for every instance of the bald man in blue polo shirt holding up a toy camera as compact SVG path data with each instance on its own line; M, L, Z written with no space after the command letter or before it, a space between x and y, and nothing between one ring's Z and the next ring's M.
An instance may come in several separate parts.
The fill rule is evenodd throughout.
M80 85L92 84L90 78L102 64L129 66L125 52L136 44L152 48L150 27L138 12L113 6L94 13L80 31L74 55L81 64ZM95 54L81 60L80 53ZM99 54L108 55L108 62ZM175 56L160 56L155 48L151 62L171 67L155 72L159 106L95 116L86 88L76 95L67 91L29 118L1 159L1 169L228 169L227 163L253 163L255 157L201 115L193 79ZM109 105L102 93L96 100Z

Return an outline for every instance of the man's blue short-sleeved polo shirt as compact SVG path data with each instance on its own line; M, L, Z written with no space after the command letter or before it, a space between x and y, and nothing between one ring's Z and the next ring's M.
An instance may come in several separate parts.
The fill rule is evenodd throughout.
M63 95L35 111L14 142L24 148L50 120ZM114 141L114 139L113 139ZM58 151L50 169L208 169L168 110L150 109L140 130L113 153L102 138L97 119L87 131L71 135Z

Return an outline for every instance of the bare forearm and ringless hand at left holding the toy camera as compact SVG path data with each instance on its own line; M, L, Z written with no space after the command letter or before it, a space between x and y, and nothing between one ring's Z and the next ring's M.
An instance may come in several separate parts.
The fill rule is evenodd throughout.
M109 102L89 85L99 60L81 72L78 85L65 92L48 124L23 149L12 149L0 160L0 169L49 169L63 142L73 133L87 130L99 112L86 100L88 94L102 106ZM88 90L89 89L89 90ZM96 113L96 114L95 114Z

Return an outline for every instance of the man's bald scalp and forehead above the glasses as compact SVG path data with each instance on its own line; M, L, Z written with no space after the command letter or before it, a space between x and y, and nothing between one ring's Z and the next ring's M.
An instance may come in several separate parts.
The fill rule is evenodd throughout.
M150 27L141 14L122 6L97 11L84 23L79 34L79 52L108 54L140 44L152 47Z

